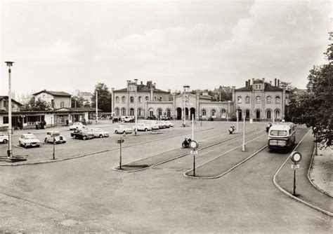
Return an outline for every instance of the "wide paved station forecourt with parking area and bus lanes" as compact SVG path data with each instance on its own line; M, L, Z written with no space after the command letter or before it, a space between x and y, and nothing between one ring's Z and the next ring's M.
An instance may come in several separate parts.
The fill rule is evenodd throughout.
M13 154L28 156L20 163L0 162L0 233L332 231L332 216L297 202L273 183L282 167L276 182L291 192L291 161L285 163L291 151L267 149L267 123L247 123L242 152L242 124L229 135L235 122L196 122L193 177L193 156L190 149L181 149L191 128L173 122L174 128L159 134L126 135L122 170L116 143L122 135L113 132L117 123L98 123L110 137L86 141L72 139L67 127L53 128L67 137L66 144L55 145L55 160L51 144L35 149L17 145L20 133L33 132L43 141L48 129L16 131ZM330 198L302 180L313 152L308 128L296 128L295 146L304 157L297 197L332 212ZM5 144L0 144L0 155L6 156ZM306 194L320 195L321 201Z

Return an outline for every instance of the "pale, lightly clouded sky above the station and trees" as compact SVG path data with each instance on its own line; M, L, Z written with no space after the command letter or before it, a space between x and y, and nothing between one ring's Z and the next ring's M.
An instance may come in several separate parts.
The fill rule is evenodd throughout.
M305 88L332 31L332 1L1 1L0 95L237 88L252 78Z

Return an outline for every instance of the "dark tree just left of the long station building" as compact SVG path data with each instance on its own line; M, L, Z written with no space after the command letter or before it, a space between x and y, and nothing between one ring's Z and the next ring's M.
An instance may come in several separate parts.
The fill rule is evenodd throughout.
M97 83L92 97L92 107L96 107L96 91L98 92L98 109L105 112L111 112L111 92L104 83Z

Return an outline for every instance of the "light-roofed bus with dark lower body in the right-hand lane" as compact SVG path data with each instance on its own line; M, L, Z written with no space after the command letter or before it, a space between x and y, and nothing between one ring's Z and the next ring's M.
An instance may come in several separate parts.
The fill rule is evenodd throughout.
M268 131L268 149L290 149L295 144L294 123L274 123Z

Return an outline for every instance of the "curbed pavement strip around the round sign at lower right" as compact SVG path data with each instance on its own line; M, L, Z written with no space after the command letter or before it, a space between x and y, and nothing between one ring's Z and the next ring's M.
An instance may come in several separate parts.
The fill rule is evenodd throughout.
M326 210L327 212L333 212L332 198L319 191L308 179L308 168L311 164L311 158L313 155L314 143L313 135L310 133L306 135L303 142L299 145L296 151L302 154L301 162L299 163L299 170L296 170L296 198L299 198L305 202ZM293 178L294 171L291 170L292 160L288 158L287 162L278 172L276 177L277 184L290 194L293 194ZM320 167L314 167L315 171L321 170ZM325 166L325 169L328 169ZM329 174L328 172L322 171L318 174ZM320 177L318 177L320 178ZM319 179L317 181L320 181ZM330 181L330 179L329 179Z

